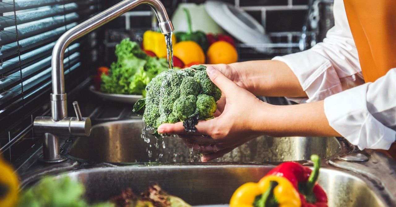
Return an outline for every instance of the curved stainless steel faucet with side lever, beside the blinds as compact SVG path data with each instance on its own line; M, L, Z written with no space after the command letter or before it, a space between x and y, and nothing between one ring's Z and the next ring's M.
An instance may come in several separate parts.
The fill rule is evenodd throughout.
M173 25L160 0L124 0L94 17L91 17L76 27L73 27L65 32L55 43L51 62L51 117L36 117L33 123L35 133L43 135L44 139L44 154L43 158L40 158L41 161L46 163L57 163L66 160L66 158L60 154L59 136L89 136L91 133L91 120L81 116L77 102L73 103L77 117L67 117L67 98L63 71L63 55L66 47L74 40L101 27L140 4L148 4L154 9L162 34L168 34L173 31Z

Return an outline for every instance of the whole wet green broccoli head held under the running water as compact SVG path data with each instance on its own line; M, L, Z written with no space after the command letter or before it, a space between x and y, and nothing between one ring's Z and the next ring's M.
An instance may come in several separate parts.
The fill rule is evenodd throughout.
M148 127L156 131L162 123L183 121L186 132L196 131L198 120L213 118L220 89L211 82L206 66L194 65L184 70L166 70L146 86L146 98L139 100L133 111L143 114Z

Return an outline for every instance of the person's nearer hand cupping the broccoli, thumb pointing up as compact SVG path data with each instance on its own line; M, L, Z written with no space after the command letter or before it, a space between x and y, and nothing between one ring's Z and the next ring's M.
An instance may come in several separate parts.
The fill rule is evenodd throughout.
M258 120L271 107L213 66L206 70L212 82L223 92L224 110L211 120L199 121L194 134L185 132L183 122L164 123L158 127L159 133L178 134L188 147L204 153L202 161L219 158L261 135L264 123Z

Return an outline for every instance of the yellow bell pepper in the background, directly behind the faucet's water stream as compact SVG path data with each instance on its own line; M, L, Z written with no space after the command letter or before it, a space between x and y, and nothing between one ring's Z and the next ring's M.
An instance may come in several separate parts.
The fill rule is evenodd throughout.
M176 36L172 35L172 44L176 43ZM143 49L154 52L157 57L167 57L165 35L161 32L147 30L143 34Z

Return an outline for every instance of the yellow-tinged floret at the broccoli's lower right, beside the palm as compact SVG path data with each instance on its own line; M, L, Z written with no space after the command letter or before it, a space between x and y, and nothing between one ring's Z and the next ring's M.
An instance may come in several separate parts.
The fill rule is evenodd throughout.
M215 99L206 94L200 94L197 97L196 107L199 112L199 120L207 120L213 118L213 113L217 109Z

